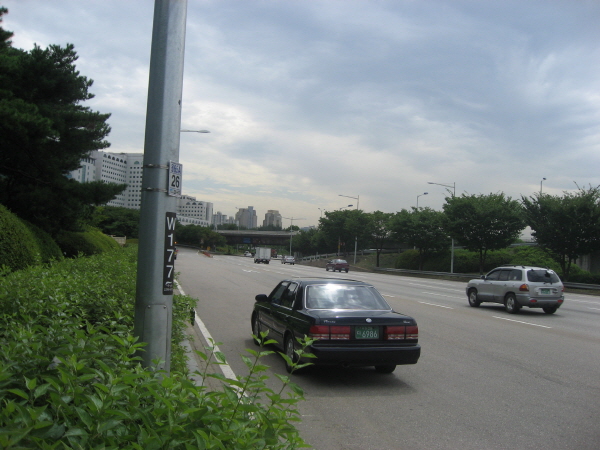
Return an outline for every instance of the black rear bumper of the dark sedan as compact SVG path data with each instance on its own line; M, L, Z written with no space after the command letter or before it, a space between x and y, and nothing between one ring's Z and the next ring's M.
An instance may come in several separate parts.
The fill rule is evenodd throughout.
M384 364L416 364L421 356L421 346L406 347L348 347L312 346L309 351L317 357L307 362L317 365L375 366Z

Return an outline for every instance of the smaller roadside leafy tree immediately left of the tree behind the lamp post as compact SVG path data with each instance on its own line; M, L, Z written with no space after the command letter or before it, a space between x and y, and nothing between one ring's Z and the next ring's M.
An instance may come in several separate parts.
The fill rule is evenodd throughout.
M392 219L391 228L398 240L418 251L419 270L423 270L423 263L429 256L449 247L444 220L443 212L431 208L403 209Z

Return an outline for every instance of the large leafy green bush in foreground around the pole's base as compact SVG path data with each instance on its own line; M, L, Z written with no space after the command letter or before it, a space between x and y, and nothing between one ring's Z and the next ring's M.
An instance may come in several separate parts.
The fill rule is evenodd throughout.
M287 376L266 386L259 359L270 352L250 351L236 380L202 374L222 391L189 380L180 343L194 299L173 302L171 374L140 366L136 260L130 246L0 279L0 448L304 447L293 426L302 391ZM222 364L209 349L198 355Z

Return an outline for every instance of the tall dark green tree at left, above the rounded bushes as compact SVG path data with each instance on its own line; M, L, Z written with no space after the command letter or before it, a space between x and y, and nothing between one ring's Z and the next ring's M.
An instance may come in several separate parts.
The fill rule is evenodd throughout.
M0 28L0 203L52 235L79 230L90 205L126 187L66 178L90 151L110 145L110 114L81 105L94 97L93 82L76 70L72 44L24 51L10 36Z

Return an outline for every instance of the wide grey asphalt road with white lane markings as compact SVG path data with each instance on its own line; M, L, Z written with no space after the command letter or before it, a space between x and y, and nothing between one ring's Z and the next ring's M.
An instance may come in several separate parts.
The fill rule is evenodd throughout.
M343 277L375 285L413 316L418 364L390 375L372 368L312 368L294 375L304 439L319 450L600 448L600 297L567 294L554 315L500 305L468 306L464 282L350 272L296 264L208 258L181 248L176 270L233 371L253 348L256 294L294 276ZM275 373L283 361L265 360Z

